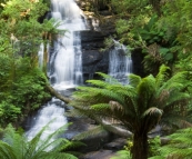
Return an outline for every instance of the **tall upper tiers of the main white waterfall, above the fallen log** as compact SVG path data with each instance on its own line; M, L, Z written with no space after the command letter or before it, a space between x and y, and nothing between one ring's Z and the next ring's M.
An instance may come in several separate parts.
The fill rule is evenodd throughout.
M81 11L73 0L52 0L52 17L60 21L59 29L68 30L54 42L50 72L53 87L70 88L83 82L80 30L85 30Z

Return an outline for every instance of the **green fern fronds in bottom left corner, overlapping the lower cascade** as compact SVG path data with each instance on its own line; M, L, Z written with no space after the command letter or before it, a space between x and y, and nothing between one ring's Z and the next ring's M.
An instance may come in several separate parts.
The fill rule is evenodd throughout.
M4 130L2 141L0 141L1 159L77 159L73 155L63 150L63 147L71 146L72 142L63 138L55 138L65 130L65 126L49 135L46 139L41 139L42 133L48 126L42 128L37 136L30 141L24 135L16 131L9 125ZM54 137L54 141L51 139Z

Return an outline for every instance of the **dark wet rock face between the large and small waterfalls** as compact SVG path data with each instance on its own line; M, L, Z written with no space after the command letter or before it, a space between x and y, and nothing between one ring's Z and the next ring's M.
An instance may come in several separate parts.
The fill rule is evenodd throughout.
M98 78L95 72L108 73L109 52L102 52L107 36L99 31L81 31L83 79Z

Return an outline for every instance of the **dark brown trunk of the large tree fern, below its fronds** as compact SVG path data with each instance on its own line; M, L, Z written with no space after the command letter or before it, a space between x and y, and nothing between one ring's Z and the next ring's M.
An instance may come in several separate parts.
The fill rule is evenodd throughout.
M139 132L133 136L132 159L148 159L148 133Z

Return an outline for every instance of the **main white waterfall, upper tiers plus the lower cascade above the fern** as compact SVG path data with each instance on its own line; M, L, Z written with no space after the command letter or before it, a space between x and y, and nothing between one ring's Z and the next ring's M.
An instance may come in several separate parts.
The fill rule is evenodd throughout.
M49 56L50 82L58 91L75 87L82 83L81 39L78 31L84 30L85 24L81 18L81 10L73 0L51 0L52 18L60 21L58 29L68 30L64 36L58 36L57 41ZM42 48L41 48L42 49ZM54 80L52 80L54 79ZM52 99L38 113L32 128L27 132L29 139L48 122L49 129L46 133L52 133L67 123L60 100Z

